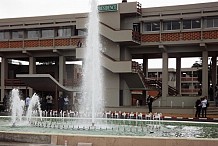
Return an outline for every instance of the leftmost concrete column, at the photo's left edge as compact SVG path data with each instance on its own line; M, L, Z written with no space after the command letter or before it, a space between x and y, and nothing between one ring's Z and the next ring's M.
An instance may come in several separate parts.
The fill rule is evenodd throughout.
M3 98L5 96L5 69L6 69L6 63L7 59L2 57L2 62L1 62L1 101L3 101Z

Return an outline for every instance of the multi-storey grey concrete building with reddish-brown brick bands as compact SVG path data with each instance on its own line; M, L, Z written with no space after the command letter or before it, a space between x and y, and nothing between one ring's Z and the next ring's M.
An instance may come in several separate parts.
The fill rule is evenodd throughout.
M144 90L146 96L151 58L163 59L158 82L161 105L169 105L171 95L181 94L181 58L185 57L202 57L202 95L208 95L208 57L212 57L212 84L217 83L217 8L218 2L158 8L142 8L138 2L99 6L106 106L131 105L131 90ZM33 90L53 91L56 101L58 92L78 91L65 86L66 62L83 58L87 19L87 13L1 19L1 101L5 91L15 87L9 81L28 89L29 95ZM168 58L176 58L177 90L168 85ZM132 59L143 59L143 71ZM21 72L19 64L15 71L13 60L27 61L28 68ZM41 70L36 63L53 69Z

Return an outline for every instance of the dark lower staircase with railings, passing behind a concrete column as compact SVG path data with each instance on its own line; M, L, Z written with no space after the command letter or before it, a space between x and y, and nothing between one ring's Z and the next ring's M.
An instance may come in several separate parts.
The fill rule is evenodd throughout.
M160 93L158 95L158 97L160 97L161 90L162 90L162 82L160 80L146 78L143 71L142 71L141 66L137 62L133 61L132 65L133 65L133 71L138 73L138 75L140 76L140 78L144 84L144 87L147 90L158 90ZM170 96L176 96L178 94L178 92L174 87L168 85L168 94Z

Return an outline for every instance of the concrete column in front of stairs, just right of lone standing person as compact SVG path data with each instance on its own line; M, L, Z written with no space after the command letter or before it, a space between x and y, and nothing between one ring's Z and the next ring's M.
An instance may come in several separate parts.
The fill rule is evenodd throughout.
M162 65L162 106L166 106L166 100L168 96L168 53L162 53L163 65Z

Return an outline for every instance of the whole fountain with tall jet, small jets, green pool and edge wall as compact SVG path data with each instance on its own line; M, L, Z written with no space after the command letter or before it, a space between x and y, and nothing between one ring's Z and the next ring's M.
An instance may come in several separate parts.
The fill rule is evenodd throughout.
M24 133L28 133L26 136L32 135L33 138L25 138L25 142L49 144L67 144L68 141L72 145L76 145L79 142L92 142L95 146L101 146L106 145L106 143L110 144L113 141L114 143L111 145L118 145L118 143L119 145L153 143L154 146L157 146L163 144L163 141L170 144L174 140L176 142L182 141L181 145L185 145L187 138L189 138L189 144L192 143L193 145L198 143L200 138L213 139L210 141L201 139L201 143L209 144L213 142L212 144L217 144L217 123L164 121L161 113L143 115L142 113L121 111L104 112L97 0L91 1L89 18L83 71L83 95L79 101L79 113L75 111L61 111L60 114L57 111L40 112L38 96L34 94L26 116L22 116L24 114L24 101L20 100L19 91L13 89L11 121L15 124L14 127L11 127L11 124L8 124L10 117L1 117L1 131L13 133L12 135L15 136L15 139L19 137L19 134L23 137ZM34 106L38 106L38 112L33 110ZM39 116L33 116L35 114ZM26 119L30 125L22 126L17 124L18 121L23 119ZM17 131L23 133L17 134ZM42 135L44 136L43 138L40 137ZM37 139L36 137L39 138ZM163 137L171 137L171 139L164 139ZM180 137L181 139L178 140L175 137ZM199 139L196 140L196 138ZM10 137L9 139L13 138ZM28 141L29 139L30 141ZM42 139L47 141L45 142ZM177 145L180 146L180 144Z

